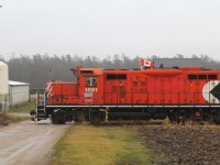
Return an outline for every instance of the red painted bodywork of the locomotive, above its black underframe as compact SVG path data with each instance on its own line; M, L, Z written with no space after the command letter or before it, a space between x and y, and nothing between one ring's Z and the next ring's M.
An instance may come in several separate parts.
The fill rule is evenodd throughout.
M77 67L73 70L78 76L77 82L47 84L47 105L207 105L202 88L210 79L188 79L188 75L217 75L220 78L220 72L198 67L146 70ZM127 77L108 79L108 75ZM92 78L96 78L97 84L87 86L86 80Z

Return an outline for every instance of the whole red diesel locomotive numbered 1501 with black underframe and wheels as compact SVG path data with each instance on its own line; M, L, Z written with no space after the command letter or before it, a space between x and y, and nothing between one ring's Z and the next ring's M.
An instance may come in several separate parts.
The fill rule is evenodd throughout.
M78 66L76 81L48 81L33 120L187 120L220 123L220 72L201 67L103 69Z

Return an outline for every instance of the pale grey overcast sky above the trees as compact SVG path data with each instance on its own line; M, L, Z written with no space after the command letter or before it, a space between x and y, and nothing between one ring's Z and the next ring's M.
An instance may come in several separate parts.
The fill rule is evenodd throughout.
M220 0L0 0L0 56L206 54L220 61Z

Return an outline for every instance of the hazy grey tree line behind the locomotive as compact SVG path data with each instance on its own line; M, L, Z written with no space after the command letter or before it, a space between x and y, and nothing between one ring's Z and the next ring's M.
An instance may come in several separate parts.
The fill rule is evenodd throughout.
M106 69L138 69L140 68L140 58L153 61L160 56L136 56L130 58L125 54L106 56L99 59L97 56L87 56L82 58L79 55L48 56L48 55L20 55L4 61L9 66L9 79L15 81L29 82L31 88L44 88L50 80L73 81L74 75L70 70L76 66L100 67ZM176 55L174 58L185 58L184 55ZM190 58L201 58L202 66L208 69L220 69L220 62L212 59L207 55L193 55Z

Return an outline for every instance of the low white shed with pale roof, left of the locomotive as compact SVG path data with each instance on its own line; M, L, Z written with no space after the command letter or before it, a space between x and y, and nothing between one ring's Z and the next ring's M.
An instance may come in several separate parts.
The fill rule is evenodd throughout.
M9 107L21 106L30 101L30 84L9 80Z

